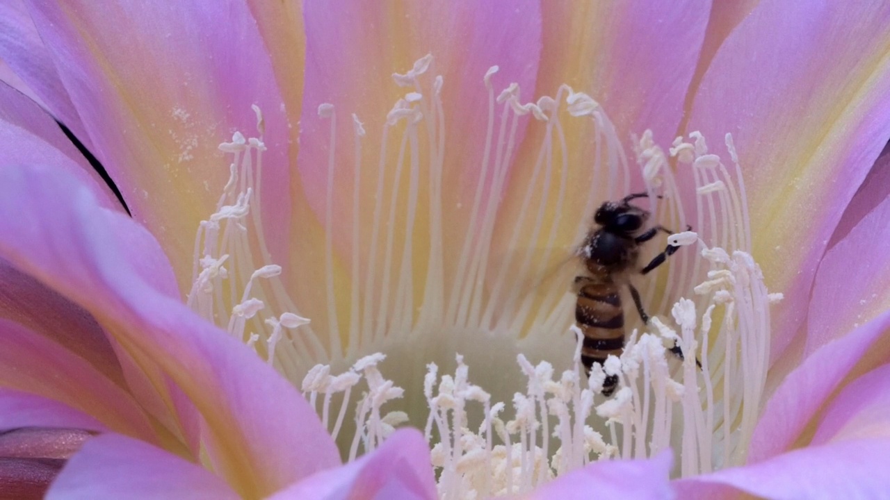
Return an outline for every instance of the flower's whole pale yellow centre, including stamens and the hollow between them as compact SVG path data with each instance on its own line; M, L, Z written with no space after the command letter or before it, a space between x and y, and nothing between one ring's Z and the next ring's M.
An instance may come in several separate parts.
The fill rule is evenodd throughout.
M330 123L320 217L327 310L312 311L322 328L307 325L279 281L281 268L268 262L256 189L265 149L258 109L259 138L236 133L220 146L233 156L231 177L216 213L198 228L190 306L302 380L350 459L409 420L424 428L445 498L528 491L592 460L667 448L679 456L681 476L744 463L769 359L768 306L781 297L767 293L749 254L732 137L725 138L730 169L700 133L677 138L666 154L646 131L633 139L634 169L590 96L562 85L552 97L523 103L515 84L496 96L492 67L481 78L487 125L479 131L484 152L472 201L457 206L468 230L452 241L444 110L453 107L443 105L442 77L427 77L432 68L426 56L393 75L409 92L385 117L370 180L362 178L365 125L352 114L352 205L345 210L334 205L338 110L319 106ZM528 128L524 140L520 125ZM584 140L567 140L567 129ZM537 141L533 154L520 154L522 141ZM571 161L576 142L583 165ZM522 178L511 177L511 165L523 162ZM579 172L589 185L584 197L571 198ZM624 198L632 184L649 195L652 224L695 231L667 238L667 246L685 248L641 289L645 310L669 310L670 319L643 324L628 310L620 356L594 363L587 376L584 335L571 326L577 296L569 289L578 270L570 263L579 257L567 248L590 230L597 202ZM368 185L375 196L364 196ZM507 189L519 193L512 206ZM351 254L341 262L334 234L344 213L352 214ZM641 261L661 245L653 243L650 254L646 246ZM352 277L345 285L336 279L341 265ZM440 366L452 373L441 375ZM610 398L603 396L607 376L619 381Z

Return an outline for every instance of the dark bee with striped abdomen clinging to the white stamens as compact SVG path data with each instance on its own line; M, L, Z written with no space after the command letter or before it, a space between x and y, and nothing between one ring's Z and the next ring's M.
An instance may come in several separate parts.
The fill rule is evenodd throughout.
M603 203L594 215L595 225L587 233L578 256L587 274L575 278L578 302L575 321L584 334L581 362L590 375L594 363L601 366L609 355L620 356L624 350L624 310L621 304L621 286L627 286L634 299L637 312L644 324L649 316L643 310L640 293L630 282L635 272L648 274L674 254L679 246L668 245L643 269L638 268L640 247L655 238L659 231L672 231L660 225L648 227L650 213L630 204L636 198L647 198L647 193L634 193L620 201ZM660 197L659 197L660 198ZM692 230L690 226L687 230ZM678 346L670 350L682 358ZM618 376L608 375L603 383L603 394L611 396L618 385Z

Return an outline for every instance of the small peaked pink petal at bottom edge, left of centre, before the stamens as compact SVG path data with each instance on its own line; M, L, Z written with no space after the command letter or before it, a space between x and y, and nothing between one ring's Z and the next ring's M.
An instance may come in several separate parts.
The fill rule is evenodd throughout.
M400 429L373 453L279 491L270 500L438 498L430 450L415 429Z

